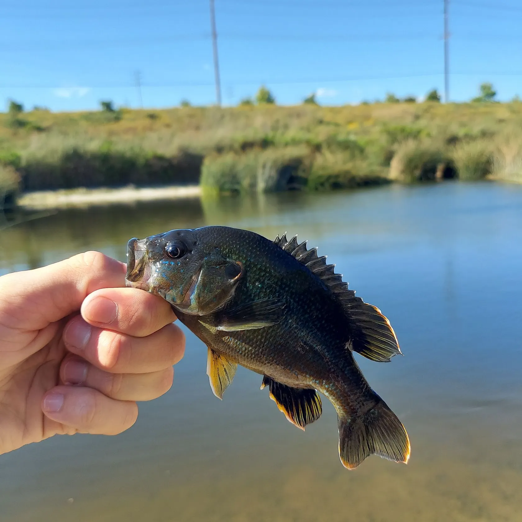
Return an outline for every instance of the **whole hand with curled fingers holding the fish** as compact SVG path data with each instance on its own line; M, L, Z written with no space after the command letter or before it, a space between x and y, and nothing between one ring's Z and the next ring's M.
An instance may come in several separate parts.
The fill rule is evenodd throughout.
M99 252L0 277L0 454L130 428L136 402L172 385L185 349L175 319Z

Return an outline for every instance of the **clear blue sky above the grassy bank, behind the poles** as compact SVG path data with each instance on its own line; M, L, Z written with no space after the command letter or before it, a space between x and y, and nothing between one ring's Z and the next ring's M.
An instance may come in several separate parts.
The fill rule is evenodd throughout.
M443 0L215 0L224 105L266 84L281 104L443 91ZM450 99L491 81L522 95L522 3L450 0ZM100 100L215 103L208 0L2 0L0 100L53 111Z

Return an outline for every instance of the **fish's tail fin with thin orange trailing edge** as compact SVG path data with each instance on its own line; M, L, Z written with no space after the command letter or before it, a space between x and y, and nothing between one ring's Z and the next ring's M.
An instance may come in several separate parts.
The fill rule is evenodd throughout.
M339 416L339 457L353 469L370 455L396 462L408 462L410 440L395 413L379 397L379 402L361 416Z

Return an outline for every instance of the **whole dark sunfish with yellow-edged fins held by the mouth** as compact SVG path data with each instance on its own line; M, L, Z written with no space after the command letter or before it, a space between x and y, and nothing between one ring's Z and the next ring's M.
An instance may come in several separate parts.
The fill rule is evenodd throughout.
M304 430L321 416L321 393L337 412L343 466L374 454L406 464L406 429L353 357L388 362L402 354L397 337L334 268L297 236L207 226L129 240L126 284L167 300L205 343L216 397L244 366Z

